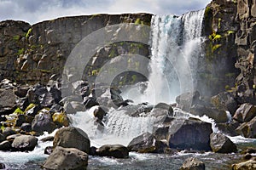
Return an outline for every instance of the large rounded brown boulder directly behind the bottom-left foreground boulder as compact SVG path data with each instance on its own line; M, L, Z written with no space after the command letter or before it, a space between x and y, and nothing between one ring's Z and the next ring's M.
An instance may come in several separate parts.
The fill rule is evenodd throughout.
M62 127L55 133L53 146L64 148L76 148L85 153L90 153L90 139L84 131L78 127Z

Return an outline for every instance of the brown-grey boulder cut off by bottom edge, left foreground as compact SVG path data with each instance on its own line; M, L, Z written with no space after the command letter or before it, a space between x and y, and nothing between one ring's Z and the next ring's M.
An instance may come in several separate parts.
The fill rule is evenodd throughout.
M86 169L88 155L75 148L62 148L58 146L44 162L44 169Z

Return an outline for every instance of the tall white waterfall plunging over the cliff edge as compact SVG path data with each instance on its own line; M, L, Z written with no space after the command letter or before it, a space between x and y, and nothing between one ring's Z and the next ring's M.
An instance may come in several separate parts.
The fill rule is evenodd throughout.
M142 102L171 103L177 95L196 89L203 14L204 10L180 17L172 14L153 16L151 73Z

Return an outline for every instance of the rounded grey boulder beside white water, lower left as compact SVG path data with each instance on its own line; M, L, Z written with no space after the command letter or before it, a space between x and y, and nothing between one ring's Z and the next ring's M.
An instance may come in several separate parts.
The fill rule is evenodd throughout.
M38 139L30 135L20 135L17 136L12 143L12 147L15 150L20 151L32 151L38 144Z

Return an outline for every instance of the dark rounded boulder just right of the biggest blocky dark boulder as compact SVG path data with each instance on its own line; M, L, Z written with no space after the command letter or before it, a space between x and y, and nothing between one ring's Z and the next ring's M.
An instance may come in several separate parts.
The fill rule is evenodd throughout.
M212 133L211 136L211 148L214 152L218 153L232 153L236 152L236 144L234 144L228 137L221 133Z

